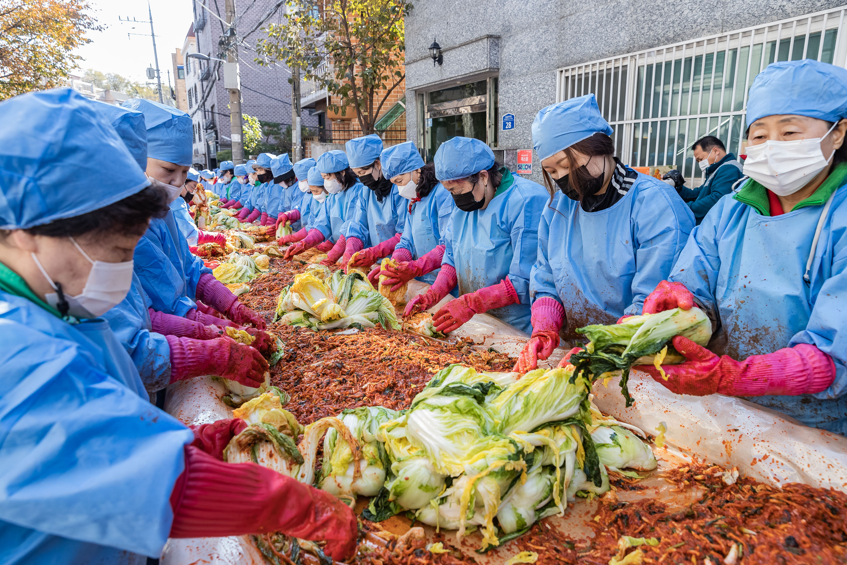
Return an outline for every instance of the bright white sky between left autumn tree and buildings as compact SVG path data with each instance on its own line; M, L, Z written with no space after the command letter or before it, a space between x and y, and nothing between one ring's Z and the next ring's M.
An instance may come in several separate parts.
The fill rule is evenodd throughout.
M95 8L95 17L99 24L105 25L102 32L89 32L91 43L79 47L75 54L85 58L80 61L80 69L96 69L103 73L116 73L131 80L147 81L145 70L152 64L153 47L150 38L150 24L125 24L119 16L126 19L136 18L145 22L147 0L89 0ZM194 14L191 0L150 0L153 14L153 28L156 31L159 70L162 82L167 84L167 69L172 69L170 54L177 47L182 48L185 34L191 26ZM135 28L135 29L133 29ZM127 36L127 33L146 34L145 36ZM171 70L173 74L173 70ZM173 77L171 78L173 84Z

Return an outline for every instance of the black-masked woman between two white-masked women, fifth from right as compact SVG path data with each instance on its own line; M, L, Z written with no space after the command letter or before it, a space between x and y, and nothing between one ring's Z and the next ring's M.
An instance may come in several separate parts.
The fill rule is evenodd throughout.
M370 269L379 259L393 252L400 242L406 224L407 200L400 196L390 177L385 175L380 162L382 140L379 136L357 137L347 141L345 147L353 174L368 187L367 191L362 191L362 205L353 220L361 226L360 230L367 239L359 241L348 237L346 246L352 251L345 252L345 256L350 258L354 252L368 246L349 266ZM348 262L342 261L342 264L345 269L348 267Z

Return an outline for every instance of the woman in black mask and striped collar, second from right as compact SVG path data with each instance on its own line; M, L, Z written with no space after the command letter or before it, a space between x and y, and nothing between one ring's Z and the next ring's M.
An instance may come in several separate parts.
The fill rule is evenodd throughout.
M532 134L551 203L539 225L533 335L519 372L549 357L560 335L579 345L578 328L640 313L694 228L671 186L614 157L612 127L593 94L542 109Z

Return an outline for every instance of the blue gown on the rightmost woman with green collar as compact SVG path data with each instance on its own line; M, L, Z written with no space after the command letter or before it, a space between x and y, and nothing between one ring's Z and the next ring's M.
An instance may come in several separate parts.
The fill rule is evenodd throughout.
M799 343L833 357L826 391L747 400L847 435L847 187L835 191L805 284L822 205L763 216L730 193L691 232L668 280L683 283L717 324L709 349L735 359Z

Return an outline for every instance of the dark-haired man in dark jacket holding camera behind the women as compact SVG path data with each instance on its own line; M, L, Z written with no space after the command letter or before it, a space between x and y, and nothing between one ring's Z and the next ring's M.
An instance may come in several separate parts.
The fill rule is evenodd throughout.
M673 180L677 181L676 188L679 196L683 197L683 200L689 205L699 225L706 217L706 213L711 210L711 207L723 195L732 191L733 185L743 174L741 163L738 162L733 153L727 152L723 142L715 136L706 136L695 141L691 149L694 151L694 158L700 166L700 170L706 173L706 182L698 188L690 189L684 186L682 175L677 174L679 178ZM666 175L666 178L673 177Z

